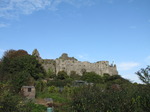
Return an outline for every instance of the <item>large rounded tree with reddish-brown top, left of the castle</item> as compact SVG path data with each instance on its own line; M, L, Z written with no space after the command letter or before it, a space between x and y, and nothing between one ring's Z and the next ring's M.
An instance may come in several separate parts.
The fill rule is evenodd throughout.
M30 85L34 80L44 78L45 71L35 56L24 50L6 51L0 63L0 81L10 82L15 92L21 86Z

